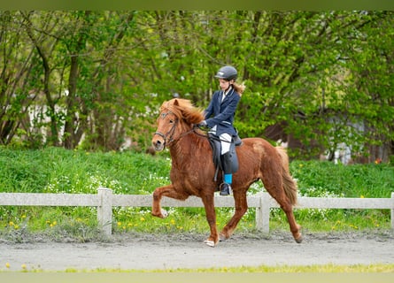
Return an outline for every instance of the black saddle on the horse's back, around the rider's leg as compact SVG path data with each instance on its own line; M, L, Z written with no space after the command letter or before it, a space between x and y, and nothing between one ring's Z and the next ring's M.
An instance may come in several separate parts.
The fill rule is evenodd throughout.
M217 135L214 134L208 134L208 141L211 144L212 148L212 161L213 164L215 165L216 171L215 171L215 176L214 176L214 181L218 180L218 173L219 170L223 171L223 164L221 162L221 144L220 144L220 138ZM230 150L229 150L229 156L231 160L231 172L235 173L238 171L238 157L236 156L236 147L239 147L242 145L242 140L240 139L239 135L233 135L231 144L230 144Z

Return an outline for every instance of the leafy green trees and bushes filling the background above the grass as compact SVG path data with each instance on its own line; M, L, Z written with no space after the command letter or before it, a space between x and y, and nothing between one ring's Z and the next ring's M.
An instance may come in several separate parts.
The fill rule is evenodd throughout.
M247 87L242 136L281 123L301 142L297 159L341 143L369 161L376 147L390 156L392 14L1 11L0 143L109 151L130 138L143 150L163 101L206 106L213 74L232 64Z

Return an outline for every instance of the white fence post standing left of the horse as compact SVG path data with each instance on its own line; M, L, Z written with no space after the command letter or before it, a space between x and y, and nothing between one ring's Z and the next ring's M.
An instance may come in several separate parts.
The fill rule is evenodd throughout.
M106 235L112 234L112 189L98 187L97 195L99 206L97 207L98 225Z

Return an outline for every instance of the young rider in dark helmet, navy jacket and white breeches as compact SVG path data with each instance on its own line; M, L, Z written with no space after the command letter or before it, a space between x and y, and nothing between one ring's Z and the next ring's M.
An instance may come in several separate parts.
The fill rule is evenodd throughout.
M220 90L213 93L212 100L205 109L205 120L199 124L199 126L208 126L209 133L220 138L220 159L224 172L220 195L231 194L233 181L229 150L233 136L237 135L233 126L236 107L245 89L244 85L236 83L237 76L236 68L231 65L221 67L216 73L215 78L219 79Z

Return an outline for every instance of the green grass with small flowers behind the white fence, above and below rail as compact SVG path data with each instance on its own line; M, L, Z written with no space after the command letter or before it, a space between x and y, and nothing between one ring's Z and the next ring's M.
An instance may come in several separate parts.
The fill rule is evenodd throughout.
M0 192L96 194L98 187L114 194L151 195L170 182L167 153L155 157L135 152L86 152L46 148L37 150L0 147ZM293 161L290 172L299 195L324 197L390 197L394 167L390 164L332 164ZM264 189L253 184L250 194ZM221 228L233 208L217 209ZM297 222L308 231L389 229L390 210L295 210ZM272 209L271 230L288 231L282 210ZM203 208L170 209L166 219L151 217L151 208L114 208L114 233L206 233ZM97 238L96 208L0 207L0 233L45 232L54 239L70 236L79 241ZM249 209L236 232L255 231L255 210ZM18 232L18 233L17 233ZM16 239L20 241L20 239Z

